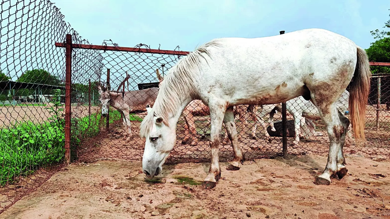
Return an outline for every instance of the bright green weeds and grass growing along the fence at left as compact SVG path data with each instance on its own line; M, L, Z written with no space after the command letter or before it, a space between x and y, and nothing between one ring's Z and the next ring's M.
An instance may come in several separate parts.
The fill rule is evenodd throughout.
M110 123L120 118L118 111L110 111ZM142 121L135 115L131 115L130 119ZM96 136L99 129L105 127L104 124L105 118L101 118L100 113L72 118L72 147L77 147L84 138ZM40 167L62 162L65 154L64 127L65 120L55 118L42 124L24 122L0 129L0 186L16 182L18 177L30 175ZM76 158L75 155L72 157Z

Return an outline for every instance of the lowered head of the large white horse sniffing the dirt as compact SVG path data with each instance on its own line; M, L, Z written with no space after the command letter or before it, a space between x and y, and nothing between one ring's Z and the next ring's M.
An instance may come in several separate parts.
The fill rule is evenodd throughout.
M149 118L144 120L150 129L145 134L145 150L142 157L142 169L148 178L153 178L162 171L162 165L176 143L176 125L168 125L161 117L152 115L152 108L146 108Z

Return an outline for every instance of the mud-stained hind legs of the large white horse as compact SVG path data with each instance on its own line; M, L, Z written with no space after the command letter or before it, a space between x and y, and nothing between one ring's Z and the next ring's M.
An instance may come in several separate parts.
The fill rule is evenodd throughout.
M333 92L334 94L335 92ZM326 163L325 170L316 179L314 184L316 185L330 185L330 177L332 175L340 173L346 174L347 169L345 166L339 165L339 162L344 161L342 157L342 145L344 145L346 130L344 128L344 122L340 121L339 113L336 108L336 104L332 101L336 101L336 98L332 98L332 94L321 94L316 98L316 95L312 92L312 99L317 106L321 119L326 126L328 136L330 140L328 162ZM342 118L342 120L344 120ZM348 127L348 126L346 126ZM341 155L341 156L340 156Z

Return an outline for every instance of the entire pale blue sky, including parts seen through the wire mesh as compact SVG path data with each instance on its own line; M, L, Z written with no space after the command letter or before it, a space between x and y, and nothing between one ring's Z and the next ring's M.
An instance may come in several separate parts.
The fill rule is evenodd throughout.
M45 69L65 79L63 42L69 23L90 44L112 40L119 46L147 44L152 49L193 51L221 37L266 37L280 30L293 32L324 28L362 48L374 42L372 30L382 30L390 19L389 0L52 0L64 18L46 0L4 0L0 14L0 71L17 80L24 72ZM87 50L83 50L87 52ZM89 50L91 51L91 50ZM74 50L78 53L80 51ZM97 53L97 52L96 52ZM94 53L94 54L96 54ZM110 68L112 87L131 72L132 89L138 83L157 82L155 69L165 70L176 56L99 51L103 67L93 70L90 56L77 54L73 82L105 81ZM173 59L172 59L173 58ZM97 60L97 59L95 59ZM89 62L84 64L84 62ZM116 80L115 80L116 79Z

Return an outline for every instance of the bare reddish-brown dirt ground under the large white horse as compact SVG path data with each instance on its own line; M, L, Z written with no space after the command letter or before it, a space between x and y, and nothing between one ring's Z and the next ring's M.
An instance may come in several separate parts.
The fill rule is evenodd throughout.
M326 164L318 155L246 161L215 189L197 185L209 163L163 166L145 180L140 162L70 164L6 210L6 219L348 219L390 217L389 162L346 157L349 169L329 186L313 184Z

